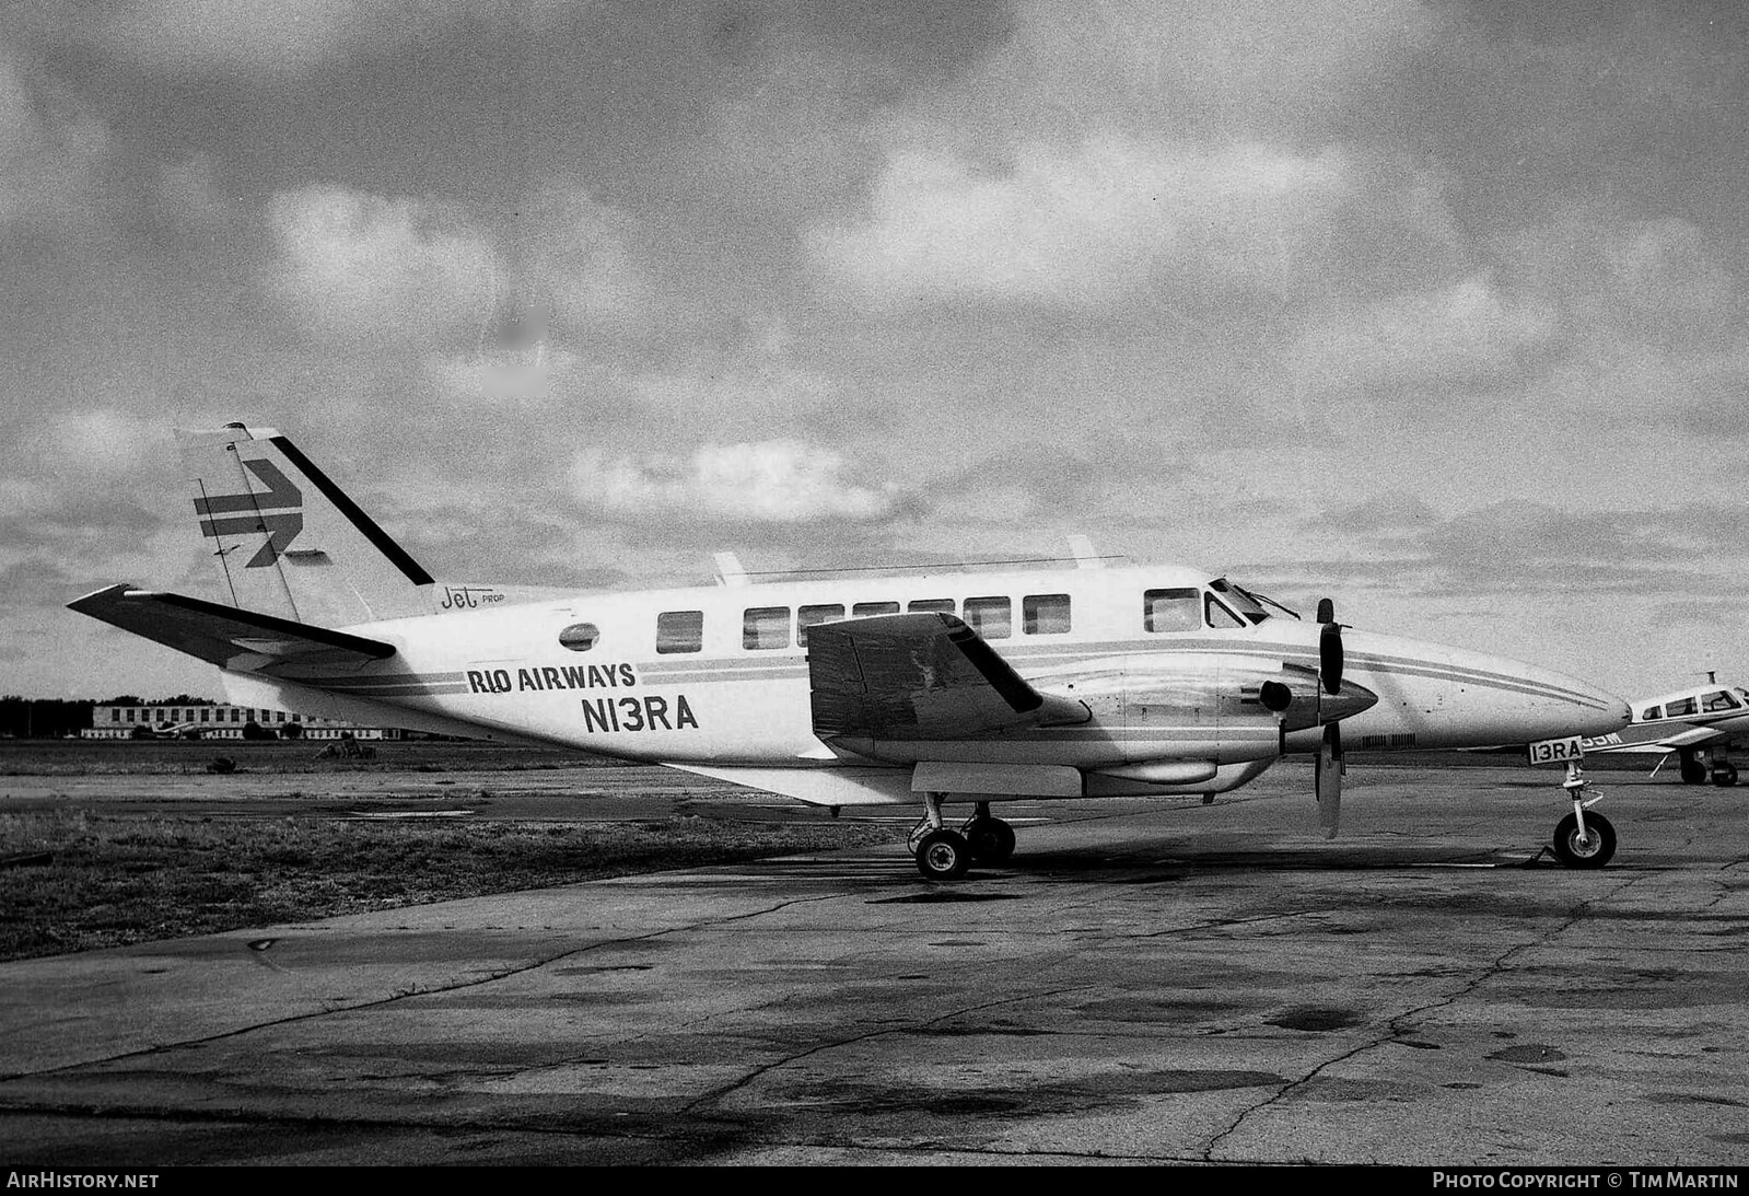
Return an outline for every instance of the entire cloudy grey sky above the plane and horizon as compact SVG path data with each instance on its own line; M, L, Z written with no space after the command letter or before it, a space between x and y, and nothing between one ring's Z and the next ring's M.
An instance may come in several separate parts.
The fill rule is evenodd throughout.
M0 691L217 696L171 428L439 577L1105 553L1749 680L1749 16L0 7Z

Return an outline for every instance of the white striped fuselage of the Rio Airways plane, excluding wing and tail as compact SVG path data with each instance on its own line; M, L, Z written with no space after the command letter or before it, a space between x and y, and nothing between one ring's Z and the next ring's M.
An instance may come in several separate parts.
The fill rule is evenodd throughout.
M1317 726L1284 731L1256 692L1272 677L1315 691L1320 624L1256 619L1212 582L1198 570L1125 567L586 593L348 628L392 643L387 661L290 680L226 677L238 701L264 705L278 689L280 701L318 713L320 691L343 717L387 703L409 727L677 766L1098 771L1207 761L1242 783L1282 752L1317 745ZM834 752L813 733L799 622L920 607L965 619L1037 691L1079 699L1090 717L894 747L873 761ZM1341 720L1352 748L1527 743L1627 722L1611 694L1513 659L1355 629L1343 647L1345 682L1376 696ZM1254 768L1230 771L1245 764Z

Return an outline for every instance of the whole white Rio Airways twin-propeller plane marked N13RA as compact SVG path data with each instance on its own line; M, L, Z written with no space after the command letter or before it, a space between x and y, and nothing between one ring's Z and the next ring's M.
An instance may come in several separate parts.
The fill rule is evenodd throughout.
M217 664L229 701L582 748L833 808L920 803L918 871L1014 852L993 803L1202 796L1310 754L1340 820L1343 741L1462 748L1604 736L1620 698L1502 656L1315 621L1186 567L752 581L453 601L290 439L178 434L222 601L108 586L72 603ZM1574 743L1578 740L1574 738ZM1583 782L1555 834L1614 853ZM969 803L958 827L943 806Z

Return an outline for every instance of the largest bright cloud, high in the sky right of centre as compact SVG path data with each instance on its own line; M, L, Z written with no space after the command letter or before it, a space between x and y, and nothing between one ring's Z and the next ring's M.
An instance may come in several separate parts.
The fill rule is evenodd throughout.
M1002 170L901 150L868 220L820 231L820 268L880 299L1100 304L1163 271L1280 289L1348 192L1336 150L1172 145L1102 133L1034 143Z

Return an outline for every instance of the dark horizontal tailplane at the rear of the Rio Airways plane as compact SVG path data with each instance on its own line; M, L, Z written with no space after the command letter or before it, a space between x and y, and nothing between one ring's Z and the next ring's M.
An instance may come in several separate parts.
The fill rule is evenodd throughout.
M394 643L290 619L222 607L201 598L108 586L66 603L79 614L143 635L220 668L273 671L276 664L364 664L395 654Z

